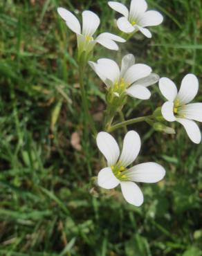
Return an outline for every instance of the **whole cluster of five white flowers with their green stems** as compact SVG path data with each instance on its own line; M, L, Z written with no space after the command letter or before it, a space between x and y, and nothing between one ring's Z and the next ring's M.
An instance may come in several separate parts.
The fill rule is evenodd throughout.
M179 122L185 128L187 135L194 143L201 142L201 131L196 122L202 122L202 103L190 103L199 90L199 81L193 74L185 75L178 91L176 85L169 78L152 73L152 68L146 64L136 63L132 54L122 57L121 66L110 59L101 58L97 62L91 61L95 44L118 51L116 42L124 43L140 31L147 38L152 33L147 27L157 26L163 22L163 16L155 10L147 10L145 0L131 0L130 8L117 1L109 1L109 6L119 12L122 17L116 21L119 35L104 32L95 36L100 25L98 15L89 10L82 12L82 26L72 12L64 8L57 8L57 12L77 36L78 64L80 67L80 88L82 102L89 123L92 124L89 114L87 98L85 96L82 77L84 68L89 63L93 71L107 86L103 131L96 131L96 141L100 152L107 159L107 167L98 174L98 185L104 189L113 189L120 185L125 200L132 205L140 206L143 203L143 193L135 182L156 183L165 176L165 169L158 163L141 163L129 167L134 162L140 151L140 136L136 131L126 132L123 140L122 153L116 140L109 134L120 127L127 129L127 125L136 122L147 122L156 131L174 134L172 127L167 127L168 122ZM148 100L151 92L148 87L159 82L159 89L167 102L157 108L150 116L124 120L122 107L127 103L127 96L139 100ZM113 124L117 113L122 116L122 122ZM88 125L88 122L86 122ZM91 128L93 130L93 125ZM86 127L88 129L88 127Z

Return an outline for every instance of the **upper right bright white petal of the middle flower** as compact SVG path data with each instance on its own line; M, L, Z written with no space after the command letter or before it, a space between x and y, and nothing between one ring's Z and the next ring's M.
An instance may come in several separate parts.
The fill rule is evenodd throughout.
M137 80L147 77L152 72L152 68L145 64L134 64L131 66L124 75L124 80L127 84L133 84Z

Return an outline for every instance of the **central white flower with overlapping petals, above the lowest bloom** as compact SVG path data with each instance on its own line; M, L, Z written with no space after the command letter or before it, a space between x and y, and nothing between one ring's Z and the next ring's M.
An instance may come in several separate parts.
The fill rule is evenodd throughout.
M147 100L151 96L147 86L159 80L158 75L152 73L152 68L145 64L135 64L135 57L132 54L122 58L121 68L109 59L100 59L98 63L89 64L117 97L124 92L131 97Z

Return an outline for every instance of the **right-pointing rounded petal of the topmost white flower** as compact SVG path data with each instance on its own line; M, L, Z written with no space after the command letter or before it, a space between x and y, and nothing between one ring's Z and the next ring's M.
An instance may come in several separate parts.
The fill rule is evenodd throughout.
M143 14L139 21L139 25L142 27L157 26L163 22L163 16L156 10L148 10Z

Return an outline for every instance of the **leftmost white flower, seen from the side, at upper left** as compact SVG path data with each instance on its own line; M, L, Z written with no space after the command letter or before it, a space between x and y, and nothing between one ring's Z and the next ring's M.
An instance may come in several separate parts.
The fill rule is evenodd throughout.
M77 17L68 10L59 7L57 8L57 12L62 19L66 21L66 26L77 35L77 45L80 51L89 53L93 50L96 43L102 44L102 46L109 48L110 50L118 51L116 42L125 42L125 39L122 39L122 37L118 37L111 33L102 33L94 38L93 35L100 25L100 19L98 15L95 15L95 13L90 10L82 12L82 28Z

